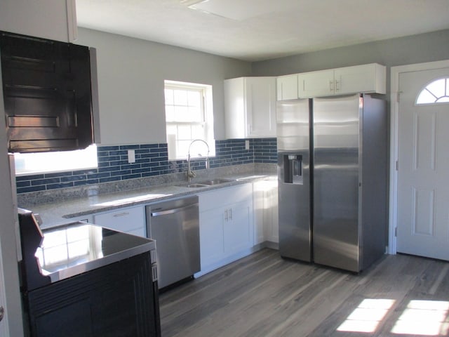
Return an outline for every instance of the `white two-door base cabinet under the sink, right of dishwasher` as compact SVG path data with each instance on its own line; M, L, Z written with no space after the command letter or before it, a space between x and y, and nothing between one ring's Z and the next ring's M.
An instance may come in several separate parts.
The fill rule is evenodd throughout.
M199 228L199 275L252 253L252 184L200 193Z

